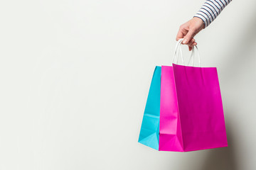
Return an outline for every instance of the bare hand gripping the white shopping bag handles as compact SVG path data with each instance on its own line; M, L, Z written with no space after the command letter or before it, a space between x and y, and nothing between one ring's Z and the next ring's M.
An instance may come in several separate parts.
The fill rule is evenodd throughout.
M188 50L191 51L192 47L197 45L196 40L193 38L197 33L205 28L203 20L198 17L193 17L190 21L183 23L176 36L176 40L184 38L182 44L188 45Z

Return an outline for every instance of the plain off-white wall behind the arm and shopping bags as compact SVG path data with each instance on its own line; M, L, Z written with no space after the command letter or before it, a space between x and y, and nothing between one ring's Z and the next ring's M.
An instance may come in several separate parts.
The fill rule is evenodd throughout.
M203 2L1 1L0 169L256 169L256 1L232 1L196 35L203 67L218 68L229 147L137 142L154 67L171 64Z

